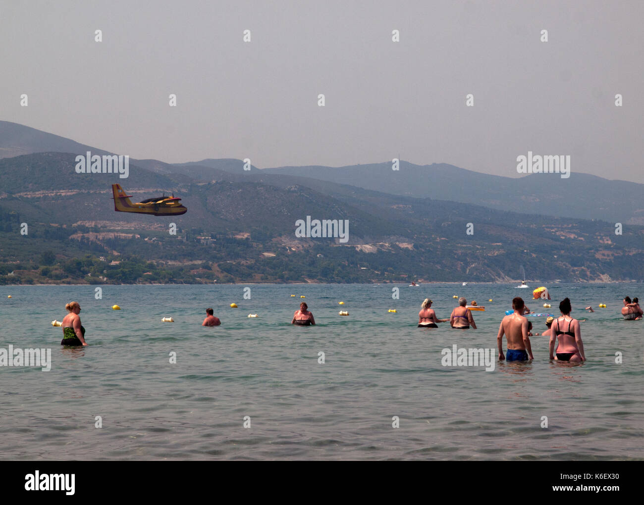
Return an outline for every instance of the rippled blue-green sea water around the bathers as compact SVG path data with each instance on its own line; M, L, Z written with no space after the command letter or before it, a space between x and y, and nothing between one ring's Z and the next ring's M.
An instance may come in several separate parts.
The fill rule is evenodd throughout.
M511 299L532 289L399 285L393 300L394 285L249 285L245 300L244 287L104 286L96 300L93 286L1 286L0 348L50 347L53 363L0 367L0 458L644 459L644 324L620 316L621 298L644 284L551 286L553 309L527 305L558 314L570 297L573 317L587 319L588 361L549 362L547 337L535 336L533 362L499 363L495 351L491 372L443 367L441 351L496 349ZM300 295L317 326L289 324ZM486 306L477 330L416 327L423 298L447 318L453 295ZM71 300L82 349L61 349L51 326ZM200 326L207 307L222 326Z

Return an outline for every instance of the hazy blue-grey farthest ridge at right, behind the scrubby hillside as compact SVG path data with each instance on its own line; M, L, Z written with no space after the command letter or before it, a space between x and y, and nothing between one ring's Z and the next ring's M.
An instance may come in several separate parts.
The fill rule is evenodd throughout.
M644 225L644 185L611 181L576 172L531 174L509 178L480 174L446 163L413 165L350 165L346 167L278 167L270 174L296 175L334 181L404 196L430 197L484 207L546 216L603 219L613 223ZM609 172L607 171L607 174Z

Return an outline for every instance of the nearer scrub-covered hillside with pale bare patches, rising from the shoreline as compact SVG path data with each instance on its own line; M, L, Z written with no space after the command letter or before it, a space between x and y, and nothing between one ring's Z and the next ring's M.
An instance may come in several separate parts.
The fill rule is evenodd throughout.
M61 268L66 265L65 275L75 274L75 259L82 254L138 255L158 266L149 279L166 282L197 282L202 270L237 282L502 281L516 277L519 264L529 265L531 276L542 280L644 279L639 226L626 226L616 236L614 225L605 221L516 214L263 170L178 167L205 170L209 181L134 163L127 179L77 174L74 156L45 152L0 160L0 283L15 280L2 274L14 270L15 262L38 262L48 251ZM188 212L172 218L114 212L115 181L135 199L174 192ZM296 220L307 216L347 219L348 242L296 237ZM168 232L171 222L177 235ZM28 235L20 234L21 223L28 224ZM473 235L466 233L468 223ZM202 266L174 273L163 266L191 262ZM61 279L62 270L50 270L41 265L38 271ZM109 276L146 282L136 271ZM42 282L34 276L44 274L30 272L25 279Z

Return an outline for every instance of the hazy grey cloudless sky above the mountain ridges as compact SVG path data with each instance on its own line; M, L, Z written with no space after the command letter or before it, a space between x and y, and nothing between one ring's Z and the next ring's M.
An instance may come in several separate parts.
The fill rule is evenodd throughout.
M639 0L3 1L0 119L171 163L518 176L533 151L642 182L643 19Z

